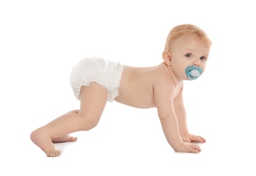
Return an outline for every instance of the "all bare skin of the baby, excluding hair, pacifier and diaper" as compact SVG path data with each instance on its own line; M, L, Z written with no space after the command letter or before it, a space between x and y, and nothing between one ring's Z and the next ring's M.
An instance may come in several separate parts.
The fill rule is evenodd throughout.
M196 66L205 71L210 46L195 35L183 35L163 52L163 62L158 66L137 68L125 66L116 102L135 108L157 108L163 132L176 152L200 152L200 147L190 143L206 140L188 132L186 110L183 102L183 81L188 80L185 69ZM201 73L201 74L202 74ZM98 83L81 88L80 110L68 112L31 133L31 140L47 154L58 156L55 142L77 141L68 135L86 131L98 124L108 100L108 91Z

